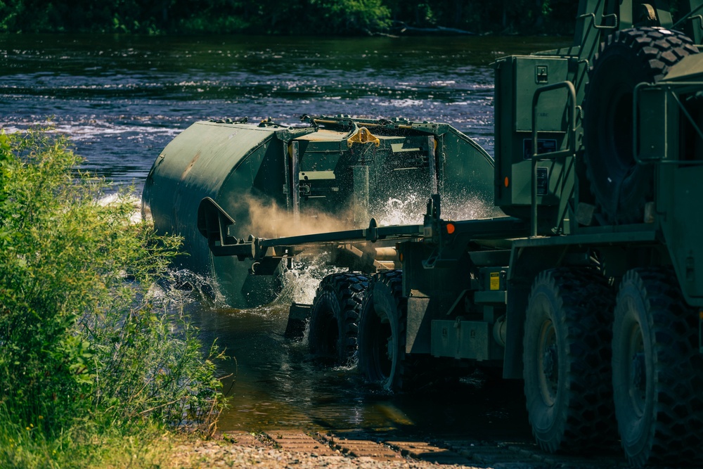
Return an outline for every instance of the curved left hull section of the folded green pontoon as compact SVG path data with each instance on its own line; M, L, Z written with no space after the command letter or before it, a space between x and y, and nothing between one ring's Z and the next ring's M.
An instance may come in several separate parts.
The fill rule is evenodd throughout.
M250 193L274 134L273 129L244 124L196 122L164 148L144 187L143 212L153 219L155 229L183 236L182 249L188 255L179 256L177 266L203 276L214 274L219 292L233 306L271 301L273 296L266 292L275 279L256 279L262 285L243 292L240 285L251 262L211 257L207 240L198 232L198 205L205 197L218 200L236 222L243 222L238 201Z

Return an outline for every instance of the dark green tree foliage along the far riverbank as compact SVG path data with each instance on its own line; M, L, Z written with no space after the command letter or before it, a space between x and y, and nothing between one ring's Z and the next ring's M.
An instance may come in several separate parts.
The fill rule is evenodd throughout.
M573 0L0 0L0 32L375 34L451 27L565 32Z

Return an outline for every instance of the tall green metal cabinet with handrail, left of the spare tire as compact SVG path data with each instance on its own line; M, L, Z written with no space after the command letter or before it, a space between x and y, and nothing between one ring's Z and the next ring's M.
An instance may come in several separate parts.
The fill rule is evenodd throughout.
M582 72L574 57L510 56L496 63L496 186L495 203L505 213L529 217L533 153L532 98L544 87L574 79ZM574 103L575 104L575 103ZM538 153L553 153L567 146L569 95L562 89L543 93L536 110ZM537 163L537 203L558 207L574 187L574 160L560 158ZM557 226L557 210L540 210L547 229Z

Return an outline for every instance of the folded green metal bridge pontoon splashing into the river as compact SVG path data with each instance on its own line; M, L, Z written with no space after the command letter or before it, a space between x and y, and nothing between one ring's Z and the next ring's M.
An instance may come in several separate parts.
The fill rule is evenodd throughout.
M195 122L166 146L147 176L143 216L157 231L183 236L188 255L178 259L179 267L214 278L214 293L231 307L274 300L285 264L213 256L198 231L211 213L222 218L207 230L217 235L222 224L226 244L235 233L273 237L358 228L409 198L417 203L404 211L420 218L427 197L438 192L453 200L457 215L491 200L491 157L449 125L342 115L302 120L302 127L271 120ZM358 257L354 252L347 255Z

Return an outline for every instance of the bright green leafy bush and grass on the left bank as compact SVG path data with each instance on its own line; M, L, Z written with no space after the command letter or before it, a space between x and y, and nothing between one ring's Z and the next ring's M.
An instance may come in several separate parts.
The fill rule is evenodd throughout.
M132 223L127 194L101 203L81 161L63 136L0 134L2 468L90 465L96 442L220 405L217 350L155 294L180 240Z

